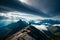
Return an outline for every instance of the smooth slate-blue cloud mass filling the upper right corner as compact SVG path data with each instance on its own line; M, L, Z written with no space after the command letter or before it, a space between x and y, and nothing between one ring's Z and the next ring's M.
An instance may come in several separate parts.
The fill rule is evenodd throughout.
M34 4L36 4L37 6L35 6ZM51 16L60 15L60 0L36 0L34 4L34 7L40 9L45 14Z

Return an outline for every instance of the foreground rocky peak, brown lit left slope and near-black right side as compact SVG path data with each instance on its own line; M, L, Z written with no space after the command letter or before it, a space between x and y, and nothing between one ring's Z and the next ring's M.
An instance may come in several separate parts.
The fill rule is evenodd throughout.
M6 40L48 40L47 36L33 26L28 26Z

